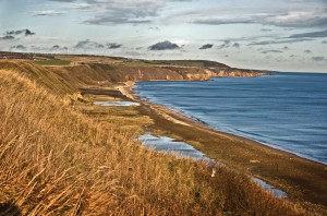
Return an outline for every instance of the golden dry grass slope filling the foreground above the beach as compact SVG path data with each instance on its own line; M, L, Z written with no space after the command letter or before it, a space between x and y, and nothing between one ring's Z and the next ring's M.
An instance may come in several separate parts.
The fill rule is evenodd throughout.
M34 215L301 214L243 175L220 167L211 178L211 167L148 151L134 142L134 130L82 115L53 94L74 91L49 71L1 63L2 213L16 206Z

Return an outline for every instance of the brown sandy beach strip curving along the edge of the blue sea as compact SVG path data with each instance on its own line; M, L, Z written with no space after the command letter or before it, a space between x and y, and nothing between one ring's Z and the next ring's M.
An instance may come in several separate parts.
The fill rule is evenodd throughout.
M327 206L327 166L257 141L217 131L168 107L134 94L135 82L118 86L125 97L141 104L140 112L154 119L158 135L182 140L208 157L263 179L288 193L292 201Z

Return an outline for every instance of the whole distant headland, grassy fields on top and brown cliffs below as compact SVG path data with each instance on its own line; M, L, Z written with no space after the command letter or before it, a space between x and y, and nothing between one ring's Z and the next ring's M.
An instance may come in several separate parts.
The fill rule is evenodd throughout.
M0 59L20 59L46 69L63 80L85 84L110 84L126 81L207 81L213 77L254 77L269 71L231 68L206 60L148 61L97 56L53 56L0 52Z

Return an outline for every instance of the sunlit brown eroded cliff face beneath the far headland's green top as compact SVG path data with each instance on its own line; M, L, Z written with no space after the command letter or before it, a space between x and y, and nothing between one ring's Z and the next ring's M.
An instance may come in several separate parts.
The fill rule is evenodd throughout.
M129 67L90 63L73 67L48 68L76 87L126 81L208 81L211 77L254 77L268 72L242 69L196 67Z

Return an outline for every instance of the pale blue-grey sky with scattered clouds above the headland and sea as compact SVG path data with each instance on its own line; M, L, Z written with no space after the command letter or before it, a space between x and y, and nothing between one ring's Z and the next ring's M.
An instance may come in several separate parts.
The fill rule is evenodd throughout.
M0 50L327 72L327 0L0 0Z

